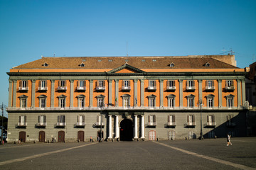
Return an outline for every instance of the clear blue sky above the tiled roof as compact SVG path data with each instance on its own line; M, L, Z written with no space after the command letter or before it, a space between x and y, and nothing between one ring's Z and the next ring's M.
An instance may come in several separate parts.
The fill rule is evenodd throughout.
M256 1L0 0L0 102L9 72L45 57L218 55L256 62ZM227 54L224 53L224 54ZM6 113L5 113L6 114Z

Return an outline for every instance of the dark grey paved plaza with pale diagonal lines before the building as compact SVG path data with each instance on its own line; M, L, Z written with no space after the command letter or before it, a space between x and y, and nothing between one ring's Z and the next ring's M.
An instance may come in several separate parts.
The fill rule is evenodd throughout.
M256 137L0 145L0 169L256 169Z

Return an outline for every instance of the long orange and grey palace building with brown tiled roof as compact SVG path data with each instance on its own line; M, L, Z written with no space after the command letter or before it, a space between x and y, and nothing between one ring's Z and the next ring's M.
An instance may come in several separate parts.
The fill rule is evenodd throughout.
M9 142L246 135L233 55L42 57L7 74Z

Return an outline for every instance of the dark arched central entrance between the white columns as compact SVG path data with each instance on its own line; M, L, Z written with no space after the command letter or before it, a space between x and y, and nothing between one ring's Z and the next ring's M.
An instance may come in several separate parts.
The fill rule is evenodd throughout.
M133 138L133 123L132 120L124 119L120 123L120 140L132 141Z

